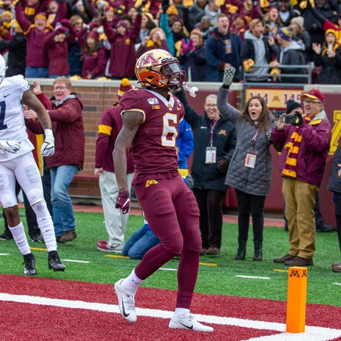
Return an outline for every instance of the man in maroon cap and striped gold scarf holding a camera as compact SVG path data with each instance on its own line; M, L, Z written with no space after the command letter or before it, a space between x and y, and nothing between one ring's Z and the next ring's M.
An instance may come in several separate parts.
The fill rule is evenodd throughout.
M332 137L323 93L312 89L303 92L301 99L304 114L291 117L282 114L271 130L274 146L281 150L279 168L290 244L288 253L274 262L287 266L313 265L315 195L323 178Z

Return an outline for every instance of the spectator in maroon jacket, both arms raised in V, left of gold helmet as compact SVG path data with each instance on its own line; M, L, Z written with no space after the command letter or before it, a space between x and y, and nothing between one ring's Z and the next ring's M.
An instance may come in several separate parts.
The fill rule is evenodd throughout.
M135 43L139 38L141 28L141 13L138 13L130 30L126 21L119 21L116 31L112 28L112 18L106 16L103 19L104 33L111 45L109 59L109 74L113 79L124 77L135 78Z

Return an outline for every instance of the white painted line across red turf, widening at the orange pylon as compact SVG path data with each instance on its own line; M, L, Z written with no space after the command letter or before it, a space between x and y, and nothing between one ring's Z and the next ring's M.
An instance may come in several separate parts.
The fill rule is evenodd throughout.
M57 298L47 298L40 296L28 295L12 295L9 293L0 293L0 301L10 301L17 303L30 303L38 305L52 305L55 307L97 310L104 313L119 313L119 306L106 303L90 303L85 301L60 300ZM173 311L136 308L139 316L147 316L153 318L171 318ZM327 341L333 340L341 336L341 330L323 327L305 326L305 332L299 334L286 333L286 325L284 323L272 323L265 321L246 320L241 318L224 318L214 315L195 314L198 321L205 323L213 323L215 325L234 325L241 328L253 328L258 330L274 330L281 334L253 337L248 341ZM299 335L299 337L298 337ZM246 340L245 340L246 341Z

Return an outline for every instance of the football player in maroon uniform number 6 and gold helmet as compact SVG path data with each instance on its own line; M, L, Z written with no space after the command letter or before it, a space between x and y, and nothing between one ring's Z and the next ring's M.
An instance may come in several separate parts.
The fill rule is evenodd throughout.
M169 328L212 332L212 327L202 325L190 313L201 250L199 209L178 173L175 141L184 109L170 93L183 85L185 72L171 53L156 49L141 55L135 73L143 89L126 92L119 104L123 127L114 148L119 186L116 207L123 212L130 207L126 184L126 150L130 148L136 197L161 244L149 249L131 274L115 283L119 309L126 320L136 322L137 288L180 254L178 295Z

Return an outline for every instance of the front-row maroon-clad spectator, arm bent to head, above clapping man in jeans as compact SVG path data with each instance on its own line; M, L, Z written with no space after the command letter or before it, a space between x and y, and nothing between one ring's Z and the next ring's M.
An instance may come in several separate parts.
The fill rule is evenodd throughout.
M57 78L69 76L70 67L67 62L67 46L72 43L75 36L66 37L67 28L60 26L45 37L45 46L48 50L48 77Z

